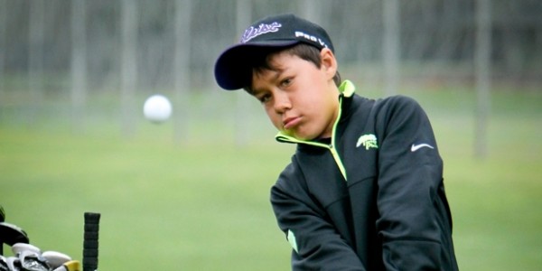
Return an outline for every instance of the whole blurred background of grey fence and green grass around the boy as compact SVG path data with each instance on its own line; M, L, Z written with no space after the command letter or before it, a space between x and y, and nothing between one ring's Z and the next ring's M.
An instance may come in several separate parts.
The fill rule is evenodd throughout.
M102 212L100 269L288 269L268 189L294 146L213 77L250 23L282 13L330 33L360 95L425 107L463 270L542 266L537 0L0 0L6 221L80 258L82 214ZM143 117L157 93L162 125Z

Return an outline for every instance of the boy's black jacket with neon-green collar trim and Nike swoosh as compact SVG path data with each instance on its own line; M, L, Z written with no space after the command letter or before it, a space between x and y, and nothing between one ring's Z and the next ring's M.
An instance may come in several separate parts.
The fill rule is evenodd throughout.
M271 189L294 270L457 270L443 163L415 100L341 86L328 142L298 144Z

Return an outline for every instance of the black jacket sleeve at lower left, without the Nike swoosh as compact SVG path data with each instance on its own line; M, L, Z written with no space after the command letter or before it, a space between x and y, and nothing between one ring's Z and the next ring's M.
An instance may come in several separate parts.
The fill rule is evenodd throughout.
M293 270L365 270L360 259L341 238L322 207L311 200L303 182L290 178L290 164L271 189L278 226L294 248Z

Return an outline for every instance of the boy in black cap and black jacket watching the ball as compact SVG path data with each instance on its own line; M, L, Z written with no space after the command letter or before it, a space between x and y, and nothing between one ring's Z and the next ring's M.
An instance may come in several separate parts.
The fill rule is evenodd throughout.
M457 270L443 163L429 120L405 97L354 94L330 37L292 14L264 18L215 65L297 144L271 189L294 270Z

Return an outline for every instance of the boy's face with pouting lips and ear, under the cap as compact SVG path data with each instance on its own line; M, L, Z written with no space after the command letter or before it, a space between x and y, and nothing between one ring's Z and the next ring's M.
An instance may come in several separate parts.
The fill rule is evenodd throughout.
M298 139L331 137L338 114L339 89L333 76L337 62L329 49L320 52L322 64L278 52L273 70L253 72L251 92L279 131Z

